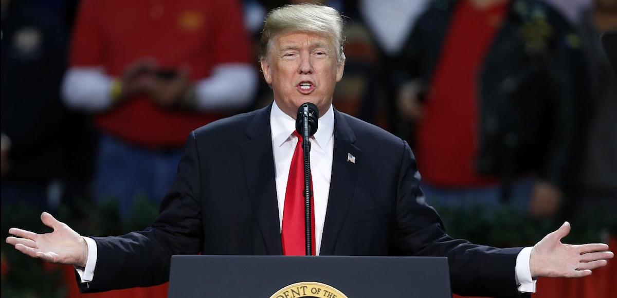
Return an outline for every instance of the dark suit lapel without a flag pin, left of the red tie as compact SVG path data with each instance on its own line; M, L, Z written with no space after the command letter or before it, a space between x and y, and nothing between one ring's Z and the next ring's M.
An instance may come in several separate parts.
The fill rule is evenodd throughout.
M241 151L255 218L262 231L267 252L270 255L281 255L283 249L270 133L271 107L257 111L251 125L244 132L250 139L241 145Z

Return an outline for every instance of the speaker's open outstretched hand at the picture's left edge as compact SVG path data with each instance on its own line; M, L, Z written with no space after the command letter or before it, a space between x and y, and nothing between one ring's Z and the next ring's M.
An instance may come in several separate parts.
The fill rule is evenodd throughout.
M54 231L36 234L19 228L10 228L9 234L16 237L8 237L6 242L33 258L85 268L88 260L88 245L85 239L47 212L41 214L41 221Z

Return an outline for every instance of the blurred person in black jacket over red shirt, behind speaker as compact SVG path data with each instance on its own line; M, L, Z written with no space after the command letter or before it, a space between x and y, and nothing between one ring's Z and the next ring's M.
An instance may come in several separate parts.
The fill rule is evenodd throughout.
M580 41L533 0L437 0L400 57L431 204L558 212L580 142ZM529 201L531 198L531 201Z

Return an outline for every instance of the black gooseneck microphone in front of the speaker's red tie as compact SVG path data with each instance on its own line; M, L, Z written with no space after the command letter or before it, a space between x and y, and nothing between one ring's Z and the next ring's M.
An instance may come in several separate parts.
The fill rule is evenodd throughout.
M311 231L311 179L310 179L310 136L317 131L319 110L310 102L302 104L296 115L296 131L302 136L302 151L304 151L304 226L306 236L306 255L312 255L312 231Z

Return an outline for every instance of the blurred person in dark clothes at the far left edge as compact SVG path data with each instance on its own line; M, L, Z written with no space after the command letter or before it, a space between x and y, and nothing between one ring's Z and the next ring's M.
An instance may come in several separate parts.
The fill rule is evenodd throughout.
M36 213L86 197L92 131L60 100L73 5L2 0L2 207Z

